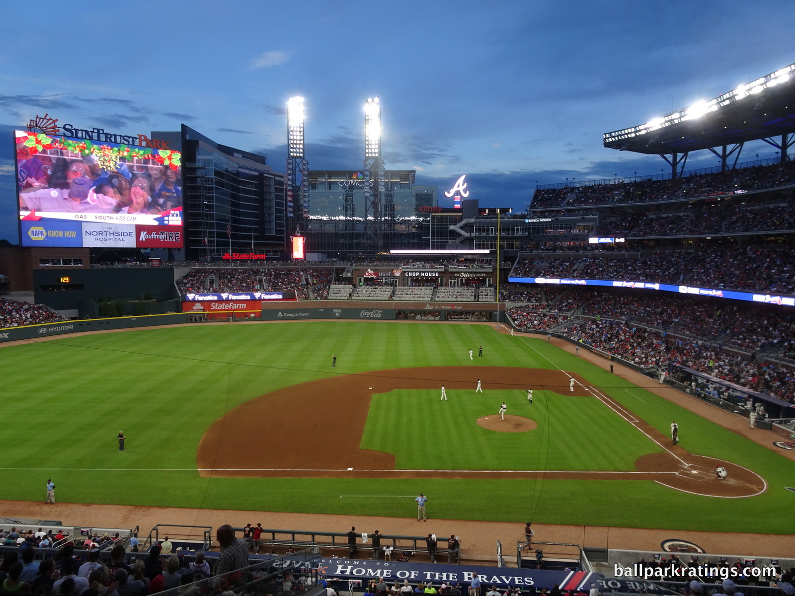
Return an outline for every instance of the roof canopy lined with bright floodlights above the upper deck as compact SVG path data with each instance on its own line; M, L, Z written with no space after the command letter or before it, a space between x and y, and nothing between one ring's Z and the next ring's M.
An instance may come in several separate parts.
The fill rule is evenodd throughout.
M795 133L795 64L709 101L603 135L609 149L664 155ZM769 141L770 142L770 141ZM784 138L783 150L789 148ZM784 159L786 159L785 156Z

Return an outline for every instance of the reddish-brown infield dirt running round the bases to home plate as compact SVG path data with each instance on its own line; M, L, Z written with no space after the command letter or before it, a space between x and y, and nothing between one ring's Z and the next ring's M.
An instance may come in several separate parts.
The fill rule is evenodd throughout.
M569 380L576 379L574 390ZM477 379L486 389L546 389L577 399L597 397L657 443L665 453L646 455L632 471L578 470L398 470L395 457L361 449L370 399L394 389L471 389ZM434 399L436 399L434 397ZM455 399L455 397L454 397ZM300 416L301 440L285 424ZM340 432L342 431L342 432ZM334 433L334 440L328 437ZM252 450L262 437L268 448ZM611 398L595 396L588 381L562 370L499 366L429 366L343 374L291 385L247 401L216 420L202 437L196 455L205 478L547 478L651 480L685 492L712 497L750 497L766 490L765 481L731 462L691 455ZM728 478L719 480L722 463Z

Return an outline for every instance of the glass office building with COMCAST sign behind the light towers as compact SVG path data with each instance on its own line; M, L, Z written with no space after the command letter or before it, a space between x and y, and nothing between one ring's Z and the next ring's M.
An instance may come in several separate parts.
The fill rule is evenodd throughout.
M381 210L365 204L366 176L355 170L310 170L309 216L301 224L308 253L347 259L390 249L428 248L436 186L414 184L414 170L386 170ZM368 220L378 219L377 236Z

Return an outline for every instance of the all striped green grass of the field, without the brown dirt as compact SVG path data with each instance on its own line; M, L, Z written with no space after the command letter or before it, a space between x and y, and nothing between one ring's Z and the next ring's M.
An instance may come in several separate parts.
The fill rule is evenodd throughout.
M479 345L483 358L471 362L467 350ZM335 370L331 354L338 356ZM766 478L770 490L720 499L648 481L208 479L196 472L196 446L210 424L270 390L333 374L467 363L579 373L661 432L677 420L684 448L747 466ZM18 468L0 471L0 498L44 501L52 476L59 501L72 502L412 517L411 499L339 495L424 492L431 517L795 532L795 493L785 490L795 483L795 462L544 340L498 335L489 326L289 322L63 336L2 347L0 367L0 467ZM395 453L400 467L465 469L565 469L568 462L576 470L626 470L638 455L657 450L591 398L569 402L536 392L533 411L543 409L547 417L531 416L539 427L512 437L476 426L455 430L448 419L429 413L413 416L413 408L440 404L436 392L429 399L423 393L429 392L375 397L363 447ZM447 402L455 420L471 420L481 407L496 412L492 399L502 401L496 391L476 399L458 393L449 392ZM397 399L390 403L390 396ZM527 407L523 393L509 399L511 413ZM298 428L300 413L294 422ZM124 452L117 450L119 430L128 437Z

